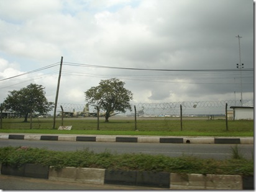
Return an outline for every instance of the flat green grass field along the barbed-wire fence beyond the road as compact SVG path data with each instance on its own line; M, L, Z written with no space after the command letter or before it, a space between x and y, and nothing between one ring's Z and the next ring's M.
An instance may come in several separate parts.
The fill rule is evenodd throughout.
M226 121L223 119L208 120L205 119L186 119L183 118L183 129L181 131L180 120L173 118L153 118L150 120L137 120L137 129L135 131L134 120L131 119L109 119L105 123L100 119L99 130L97 130L97 120L81 119L64 119L64 125L72 125L70 131L59 131L61 120L56 120L55 129L52 129L53 119L32 120L32 129L29 123L22 123L23 119L4 119L2 120L2 129L0 133L39 133L39 134L103 134L103 135L147 135L147 136L254 136L253 120L228 121L226 131Z

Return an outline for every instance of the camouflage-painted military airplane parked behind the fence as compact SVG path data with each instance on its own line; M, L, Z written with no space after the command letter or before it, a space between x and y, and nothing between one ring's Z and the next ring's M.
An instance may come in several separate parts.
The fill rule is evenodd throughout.
M63 111L63 113L64 113L65 117L79 117L79 116L83 116L83 117L88 117L88 116L97 117L97 112L93 112L93 113L89 112L89 105L88 105L88 103L85 105L85 108L83 109L83 111L75 111L75 109L73 109L73 112L71 112L71 111ZM110 116L114 116L114 115L117 115L117 114L118 113L112 112ZM106 115L106 112L99 112L99 116L100 117L104 117L105 115ZM58 116L62 116L62 111L60 111Z

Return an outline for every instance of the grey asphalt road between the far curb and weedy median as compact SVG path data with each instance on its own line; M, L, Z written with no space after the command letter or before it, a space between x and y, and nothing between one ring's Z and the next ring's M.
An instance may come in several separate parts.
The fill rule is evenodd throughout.
M231 147L235 144L165 144L165 143L130 143L130 142L79 142L79 141L29 141L0 139L0 147L29 146L46 148L53 151L76 151L88 148L94 152L144 153L162 154L170 157L180 155L194 155L204 159L229 159L232 155ZM254 157L253 144L239 144L240 154L247 159Z

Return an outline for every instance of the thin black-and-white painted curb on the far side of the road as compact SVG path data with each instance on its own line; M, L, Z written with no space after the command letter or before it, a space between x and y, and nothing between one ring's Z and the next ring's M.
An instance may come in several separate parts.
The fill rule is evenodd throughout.
M8 134L0 133L0 139L84 141L84 142L147 142L184 144L254 144L254 137L158 137L158 136L73 136L56 134Z

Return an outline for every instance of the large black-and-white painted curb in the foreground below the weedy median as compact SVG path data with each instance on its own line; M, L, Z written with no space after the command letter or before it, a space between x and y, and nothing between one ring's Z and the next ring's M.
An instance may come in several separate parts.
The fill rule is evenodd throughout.
M21 168L1 165L2 175L46 178L88 184L151 186L170 190L254 190L254 177L201 175L166 172L106 170L101 168L54 167L25 164Z

